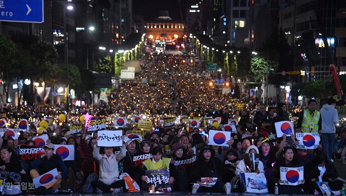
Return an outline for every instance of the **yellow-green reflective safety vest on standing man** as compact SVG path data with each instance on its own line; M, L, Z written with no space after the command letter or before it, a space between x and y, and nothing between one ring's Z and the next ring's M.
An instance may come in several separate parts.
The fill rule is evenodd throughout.
M308 109L304 110L304 118L302 121L302 132L303 133L318 133L319 132L319 120L321 113L317 110L313 112L313 117L311 118Z

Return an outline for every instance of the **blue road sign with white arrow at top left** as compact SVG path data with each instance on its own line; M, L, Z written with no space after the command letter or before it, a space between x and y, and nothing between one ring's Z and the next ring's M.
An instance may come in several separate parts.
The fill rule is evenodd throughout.
M1 0L0 21L43 22L43 0Z

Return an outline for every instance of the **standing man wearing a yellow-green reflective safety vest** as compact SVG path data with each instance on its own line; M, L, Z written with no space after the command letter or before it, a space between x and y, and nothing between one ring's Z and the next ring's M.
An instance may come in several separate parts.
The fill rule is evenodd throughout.
M301 111L298 117L298 129L303 133L321 133L322 117L316 110L316 100L309 100L307 109Z

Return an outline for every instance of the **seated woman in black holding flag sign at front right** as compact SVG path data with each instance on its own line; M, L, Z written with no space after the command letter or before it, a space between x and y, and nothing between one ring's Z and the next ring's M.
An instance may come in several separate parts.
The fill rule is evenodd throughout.
M285 182L282 180L282 176L280 176L281 168L297 168L301 167L298 158L293 153L293 148L290 146L286 146L283 148L282 153L277 158L274 167L272 168L272 173L270 175L270 179L267 183L269 192L274 192L275 183L278 184L279 194L302 194L302 184L305 183L305 179L301 180L302 184L293 186L293 185L283 185ZM297 176L298 175L298 176ZM299 178L299 173L294 174L292 176L287 176L286 178L292 178L295 180ZM290 181L289 179L287 179ZM291 182L291 181L290 181Z

